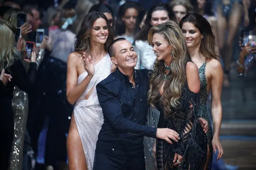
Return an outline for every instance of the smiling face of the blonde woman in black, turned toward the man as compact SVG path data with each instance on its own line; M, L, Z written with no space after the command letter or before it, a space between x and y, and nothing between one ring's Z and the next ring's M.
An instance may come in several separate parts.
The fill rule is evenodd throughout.
M155 33L152 37L152 46L158 61L171 57L172 46L165 40L163 35Z

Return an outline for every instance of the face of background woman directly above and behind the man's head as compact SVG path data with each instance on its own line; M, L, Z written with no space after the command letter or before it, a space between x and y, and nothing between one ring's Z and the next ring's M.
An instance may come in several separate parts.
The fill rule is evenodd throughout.
M128 8L125 11L125 14L122 16L122 20L125 23L125 28L128 30L135 29L137 16L138 11L135 8Z

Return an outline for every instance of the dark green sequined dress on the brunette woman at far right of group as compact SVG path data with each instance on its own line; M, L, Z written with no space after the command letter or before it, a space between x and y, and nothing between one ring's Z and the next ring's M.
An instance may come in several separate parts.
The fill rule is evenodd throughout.
M212 124L210 120L210 116L207 110L207 101L208 101L208 92L207 92L207 81L206 81L206 61L204 64L198 69L199 75L200 75L200 102L199 102L199 110L198 115L208 121L208 132L207 132L207 140L208 140L208 146L210 148L211 152L211 158L208 164L208 170L212 169L212 138L213 138L213 132L212 132Z

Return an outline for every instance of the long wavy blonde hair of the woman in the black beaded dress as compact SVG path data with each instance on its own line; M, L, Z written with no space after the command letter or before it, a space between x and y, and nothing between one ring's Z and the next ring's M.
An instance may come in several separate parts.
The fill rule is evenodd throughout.
M168 116L173 109L180 107L179 98L181 97L181 89L186 83L185 65L189 61L189 53L185 38L179 26L174 21L168 21L149 30L148 42L152 45L154 34L160 34L172 46L173 56L171 62L170 74L167 75L165 85L163 87L163 95L160 102L164 106L165 116ZM171 57L171 54L170 54ZM155 107L155 103L159 99L159 89L163 84L163 76L165 75L164 61L155 60L154 69L149 79L148 99L149 105Z

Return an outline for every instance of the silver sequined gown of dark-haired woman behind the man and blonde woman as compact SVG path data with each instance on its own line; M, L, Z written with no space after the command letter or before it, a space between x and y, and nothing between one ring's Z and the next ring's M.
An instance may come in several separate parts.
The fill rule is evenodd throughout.
M134 50L138 57L135 69L153 69L156 55L149 43L143 40L136 40ZM150 107L147 113L147 125L157 127L159 115L160 113L157 109ZM156 170L156 161L152 150L154 142L154 138L144 137L146 170Z

